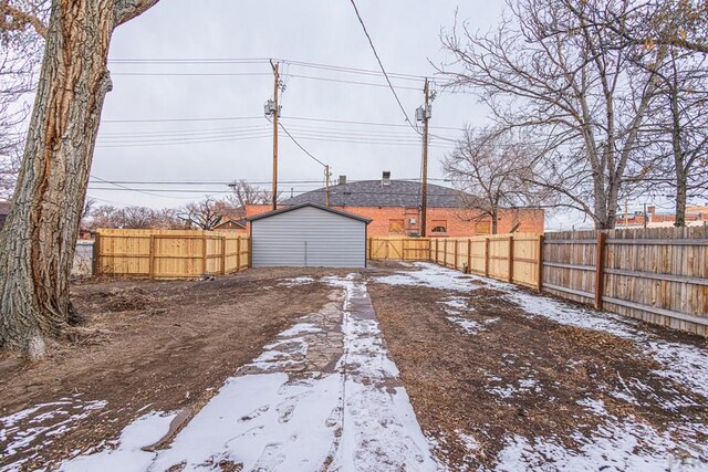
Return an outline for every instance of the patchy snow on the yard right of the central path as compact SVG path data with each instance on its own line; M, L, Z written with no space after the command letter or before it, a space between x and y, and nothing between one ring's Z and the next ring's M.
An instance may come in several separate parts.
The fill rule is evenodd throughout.
M464 294L481 286L503 292L507 301L513 302L530 316L543 316L556 323L581 328L611 333L634 342L647 356L660 366L656 374L667 377L689 388L705 399L708 410L708 350L688 344L667 342L660 337L642 331L638 324L629 318L591 310L579 308L558 300L530 294L516 286L459 272L429 263L416 263L418 271L402 271L395 275L377 277L377 282L393 285L427 286ZM448 321L473 335L483 329L483 325L467 319L461 314L471 311L465 306L465 298L451 296L441 300ZM497 378L498 379L498 378ZM500 398L509 398L524 389L535 388L534 379L524 380L524 385L498 386L490 390ZM622 396L623 392L616 392ZM618 398L618 397L616 397ZM632 402L629 396L626 401ZM533 438L529 440L519 436L509 436L506 447L499 455L497 470L622 470L622 471L679 471L708 470L708 444L696 441L677 443L670 432L680 432L684 438L696 433L708 433L706 423L684 423L671 426L659 432L652 426L637 421L633 417L617 418L604 408L601 400L583 400L583 407L602 418L601 426L586 437L580 432L573 436L579 450L569 450L558 438ZM671 408L671 405L666 405ZM680 423L681 421L677 421ZM475 453L475 441L470 438L469 453ZM598 469L601 468L601 469Z

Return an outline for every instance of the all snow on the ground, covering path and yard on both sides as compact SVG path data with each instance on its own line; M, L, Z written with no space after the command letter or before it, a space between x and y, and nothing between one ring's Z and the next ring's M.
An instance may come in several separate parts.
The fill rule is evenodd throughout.
M473 312L473 306L466 295L479 287L497 289L503 292L500 296L529 316L632 340L662 366L658 375L702 396L708 406L706 349L667 342L642 331L636 322L614 314L579 308L434 264L415 265L416 271L378 276L375 281L448 291L439 303L450 328L465 336L493 329L503 316L470 319L466 315ZM146 406L147 413L126 427L115 443L102 443L75 455L61 464L60 470L219 470L219 464L229 463L243 464L244 471L446 470L445 464L433 459L430 450L435 444L428 442L418 426L398 369L388 355L366 282L354 274L320 281L333 287L331 302L319 312L304 315L264 346L259 356L225 382L166 449L150 452L143 448L159 441L178 413L147 412ZM309 276L280 281L287 286L314 282L317 280ZM514 365L513 355L509 354L504 363ZM539 388L531 371L514 384L493 374L488 376L488 391L500 401ZM633 388L642 387L635 384ZM610 394L632 403L636 399L629 390ZM706 423L673 424L657 431L634 417L616 417L600 399L585 398L579 405L601 421L590 433L584 430L573 434L577 448L568 449L554 437L507 434L496 470L708 470L706 444L675 439L707 434ZM101 401L82 402L77 396L0 418L0 443L9 444L2 455L13 454L37 434L61 434L76 428L81 418L104 407ZM45 420L51 426L44 426ZM33 421L31 428L18 426L28 421ZM465 427L475 426L460 424ZM472 434L460 430L458 436L470 457L483 453ZM21 468L18 462L0 463L0 471Z

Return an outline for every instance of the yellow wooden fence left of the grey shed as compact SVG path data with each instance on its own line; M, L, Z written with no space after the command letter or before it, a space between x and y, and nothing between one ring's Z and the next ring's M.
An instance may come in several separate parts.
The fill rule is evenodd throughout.
M95 275L194 279L250 265L250 239L199 230L96 230Z

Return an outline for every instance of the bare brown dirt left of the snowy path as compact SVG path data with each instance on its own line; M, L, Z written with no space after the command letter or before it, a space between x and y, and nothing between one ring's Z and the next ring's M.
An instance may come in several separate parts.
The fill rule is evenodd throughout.
M73 304L87 324L73 331L70 340L52 345L49 358L39 364L0 353L0 417L58 401L67 403L62 408L72 415L95 409L66 432L49 430L32 439L34 450L0 457L0 469L30 457L23 469L39 469L117 439L126 424L150 410L204 403L296 317L327 303L332 292L316 282L281 285L281 279L347 272L258 269L214 281L75 285ZM3 441L0 450L7 452ZM240 470L238 464L218 465Z

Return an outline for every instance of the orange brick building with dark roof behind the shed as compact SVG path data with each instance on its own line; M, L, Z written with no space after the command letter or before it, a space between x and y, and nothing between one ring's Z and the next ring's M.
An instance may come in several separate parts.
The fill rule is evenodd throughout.
M330 206L371 219L368 235L409 237L420 231L420 182L408 180L363 180L340 182L330 188ZM428 185L427 237L468 237L491 233L491 218L462 208L462 192L448 187ZM281 202L283 207L299 203L325 203L325 190L312 190ZM252 217L271 207L247 206ZM542 233L544 212L538 208L503 209L498 219L498 232Z

